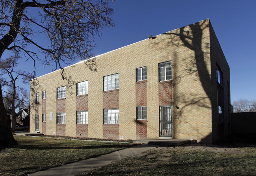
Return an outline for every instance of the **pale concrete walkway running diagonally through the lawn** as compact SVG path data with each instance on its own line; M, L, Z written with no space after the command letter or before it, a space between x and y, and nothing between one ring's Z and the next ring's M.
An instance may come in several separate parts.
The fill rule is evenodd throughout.
M121 160L125 157L131 157L137 155L146 150L159 147L159 145L137 145L131 148L125 148L110 154L98 156L95 158L90 158L82 161L77 161L75 163L70 163L67 165L62 165L59 167L54 167L51 169L35 172L28 174L28 176L73 176L87 170L93 170L96 167L101 167L104 165L111 164L112 162Z

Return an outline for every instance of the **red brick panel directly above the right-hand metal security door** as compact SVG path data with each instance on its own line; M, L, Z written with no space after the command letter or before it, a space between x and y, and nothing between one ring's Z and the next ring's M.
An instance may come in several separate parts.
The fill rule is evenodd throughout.
M158 91L159 91L159 106L173 104L172 81L159 82Z

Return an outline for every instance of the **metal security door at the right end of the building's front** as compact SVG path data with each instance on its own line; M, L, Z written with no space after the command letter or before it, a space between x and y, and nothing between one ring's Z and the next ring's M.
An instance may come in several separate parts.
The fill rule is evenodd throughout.
M172 123L172 106L160 107L160 136L173 136Z

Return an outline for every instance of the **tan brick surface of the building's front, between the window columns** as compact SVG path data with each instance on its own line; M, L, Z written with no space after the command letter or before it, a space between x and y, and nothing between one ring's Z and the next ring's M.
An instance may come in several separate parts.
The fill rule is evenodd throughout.
M155 39L146 39L98 56L95 59L96 72L89 70L83 62L65 68L64 74L68 78L72 76L74 81L74 84L69 84L66 93L65 135L76 136L76 83L88 80L88 137L103 137L103 130L99 130L103 129L103 109L107 106L104 105L106 101L103 100L105 93L102 93L103 77L119 73L119 91L117 91L119 135L124 139L136 139L136 68L147 66L147 137L158 138L159 100L161 99L159 96L162 96L158 81L158 63L171 60L172 103L173 107L180 107L180 109L173 108L173 138L195 138L197 141L211 143L212 129L215 129L212 117L216 115L212 114L212 104L216 105L216 101L213 98L215 92L211 87L215 79L215 69L212 68L214 61L211 61L211 55L209 20L207 19L157 35ZM222 65L222 62L218 64ZM226 61L224 61L224 68L226 68L225 65L227 65ZM35 92L42 90L47 92L46 116L48 117L50 112L53 113L52 120L46 119L48 135L56 132L56 88L67 84L61 79L60 72L57 70L37 78L40 86L35 88L32 86L30 94L33 105ZM223 71L223 74L226 72L229 74L229 70ZM226 82L227 80L224 80L225 84ZM39 103L41 102L42 99ZM30 131L35 128L34 109L32 106ZM42 114L42 106L38 111ZM39 124L39 131L42 131L42 123Z

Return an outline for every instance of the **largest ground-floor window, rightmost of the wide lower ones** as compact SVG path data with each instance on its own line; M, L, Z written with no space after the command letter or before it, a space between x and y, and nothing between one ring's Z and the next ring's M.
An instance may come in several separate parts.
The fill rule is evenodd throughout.
M119 109L104 109L104 124L119 124Z

